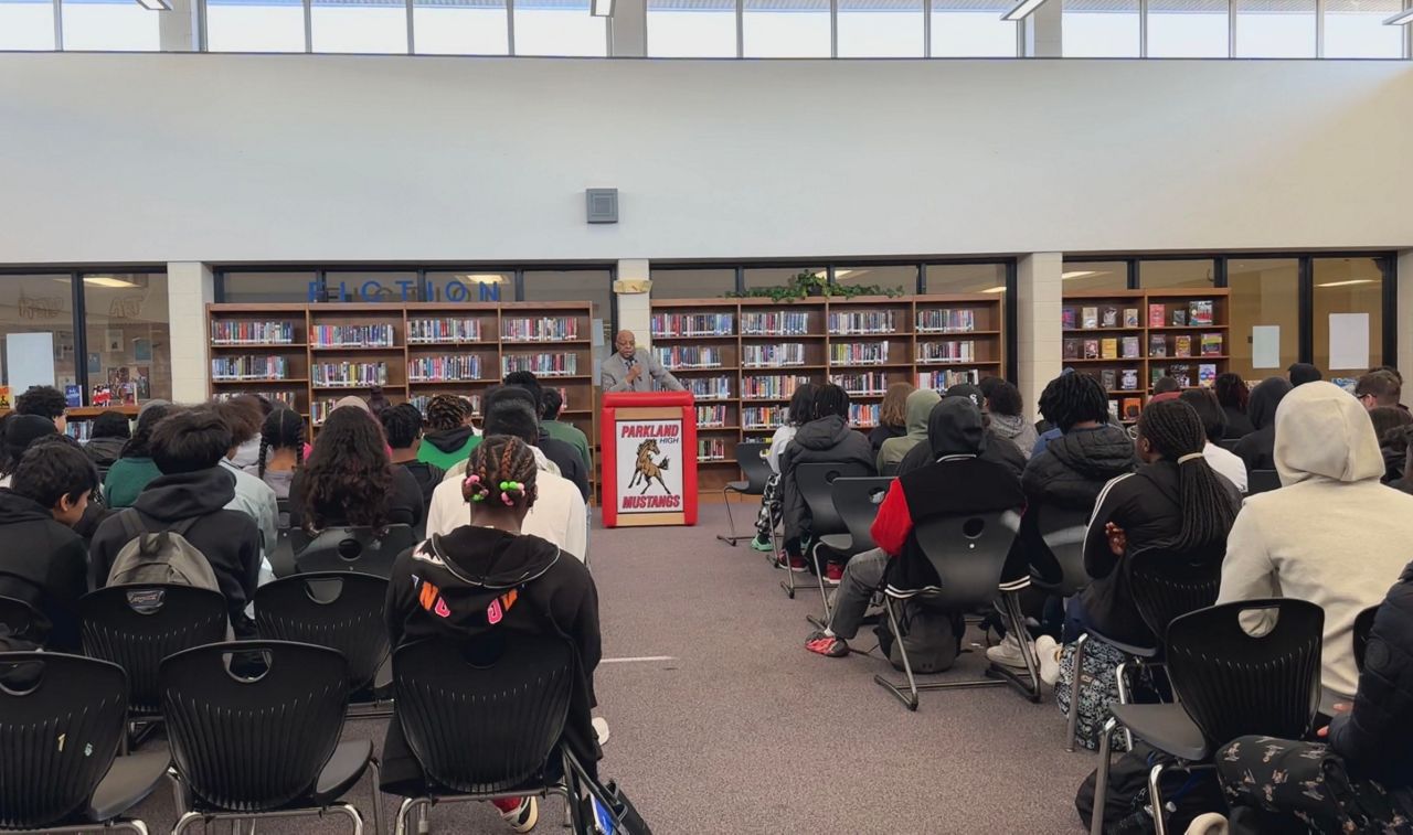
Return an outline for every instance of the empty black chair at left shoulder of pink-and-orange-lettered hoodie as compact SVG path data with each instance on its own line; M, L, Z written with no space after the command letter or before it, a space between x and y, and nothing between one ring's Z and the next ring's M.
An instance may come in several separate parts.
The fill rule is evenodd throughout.
M266 640L328 647L349 663L349 718L391 716L380 704L376 678L387 663L383 606L387 581L369 574L300 574L256 591L256 629Z

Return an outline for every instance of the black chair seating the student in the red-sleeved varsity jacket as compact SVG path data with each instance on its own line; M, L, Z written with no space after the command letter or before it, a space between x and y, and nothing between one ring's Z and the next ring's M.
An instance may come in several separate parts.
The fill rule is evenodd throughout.
M914 527L913 535L937 572L938 584L920 589L903 589L893 584L883 588L883 609L894 636L900 636L894 606L901 600L917 600L944 612L969 612L993 606L1002 599L1002 615L1009 627L1020 634L1024 630L1024 615L1015 593L1000 591L1000 575L1006 567L1006 555L1020 528L1020 516L1013 510L993 513L968 513L930 519ZM1029 681L1020 680L1012 671L992 664L986 678L968 681L931 681L917 684L913 677L913 663L907 649L897 641L903 657L903 673L907 675L907 692L903 685L875 675L873 681L892 692L909 711L917 709L917 692L923 689L957 689L964 687L991 687L1010 684L1033 702L1040 701L1040 675L1031 653L1024 653Z

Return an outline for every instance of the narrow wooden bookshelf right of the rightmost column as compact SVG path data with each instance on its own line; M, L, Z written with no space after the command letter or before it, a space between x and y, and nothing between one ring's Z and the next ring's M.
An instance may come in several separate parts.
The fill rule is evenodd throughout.
M1198 389L1229 369L1225 288L1082 291L1067 294L1061 311L1061 363L1099 379L1125 424L1159 377Z

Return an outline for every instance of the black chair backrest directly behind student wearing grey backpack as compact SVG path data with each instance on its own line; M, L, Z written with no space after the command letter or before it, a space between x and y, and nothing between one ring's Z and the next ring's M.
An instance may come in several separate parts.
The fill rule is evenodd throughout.
M79 599L83 654L127 673L127 704L136 713L158 713L157 671L162 658L189 647L226 640L226 598L179 585L107 586Z

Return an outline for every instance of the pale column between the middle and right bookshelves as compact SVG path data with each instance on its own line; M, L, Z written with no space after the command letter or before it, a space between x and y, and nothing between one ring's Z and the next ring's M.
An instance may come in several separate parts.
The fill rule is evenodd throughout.
M1033 253L1016 264L1016 386L1031 418L1046 383L1060 376L1061 273L1063 253Z

